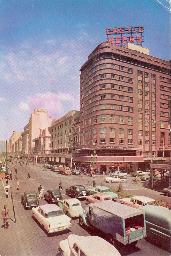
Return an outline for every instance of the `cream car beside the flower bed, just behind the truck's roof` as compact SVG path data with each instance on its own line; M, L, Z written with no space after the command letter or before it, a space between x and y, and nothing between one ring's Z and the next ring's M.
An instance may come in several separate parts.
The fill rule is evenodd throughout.
M122 198L119 200L121 204L129 205L138 208L143 205L157 205L156 200L146 196L133 196L129 198Z

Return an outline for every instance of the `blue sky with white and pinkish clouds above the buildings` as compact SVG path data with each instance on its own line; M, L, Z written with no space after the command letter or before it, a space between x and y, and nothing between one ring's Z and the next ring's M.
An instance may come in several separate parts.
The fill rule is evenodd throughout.
M79 69L106 27L142 25L150 55L170 59L170 13L157 0L1 0L0 22L0 140L36 107L54 119L79 110Z

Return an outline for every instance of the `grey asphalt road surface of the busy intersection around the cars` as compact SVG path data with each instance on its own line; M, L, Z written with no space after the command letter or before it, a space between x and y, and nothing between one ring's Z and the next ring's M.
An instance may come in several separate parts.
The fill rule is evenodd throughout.
M13 172L13 180L14 180L14 164L9 165L9 171L12 170ZM52 256L56 255L57 248L59 247L59 242L61 240L67 239L69 234L77 234L83 236L90 236L91 234L88 233L87 230L83 229L79 225L78 219L72 220L72 228L69 230L68 233L61 232L61 233L54 233L50 235L46 235L46 233L42 230L41 226L38 222L36 222L32 217L32 210L24 210L21 204L21 196L23 192L35 190L37 191L38 186L41 184L44 186L45 191L52 188L58 188L59 180L62 182L62 187L64 190L61 190L61 194L63 198L66 199L67 196L65 195L65 188L68 188L71 185L80 184L84 185L88 188L88 183L93 183L93 178L89 176L64 176L61 174L57 174L52 172L48 169L43 171L42 164L30 164L25 165L23 164L20 167L20 164L16 164L16 168L18 170L17 178L20 182L20 190L16 190L16 182L9 181L9 185L12 186L13 191L13 199L14 199L14 207L15 207L15 214L17 218L17 230L20 233L20 236L14 237L14 241L10 241L10 243L15 243L15 239L20 239L22 237L23 244L22 246L25 247L27 254L29 256ZM30 172L30 179L27 178L28 171ZM142 182L140 184L131 184L131 180L133 177L129 177L126 183L123 183L123 189L133 192L136 195L144 195L148 197L152 197L155 200L162 200L166 202L170 202L170 198L164 195L161 195L160 192L156 192L150 189L146 189L145 186L146 182ZM103 178L96 176L96 185L101 185L103 182ZM116 188L118 183L104 183L103 185L108 187ZM38 192L37 192L38 193ZM44 199L39 200L40 204L47 204ZM82 207L86 208L86 201L81 201ZM94 234L97 235L97 234ZM8 243L8 242L6 242ZM7 246L7 244L5 245ZM124 248L118 248L121 255L136 255L136 256L146 256L146 255L155 255L155 256L169 256L170 253L167 251L162 250L159 247L147 242L145 239L138 241L137 245L134 247L134 250L125 250ZM3 255L3 256L7 256ZM16 254L10 256L17 256ZM25 256L25 255L23 255Z

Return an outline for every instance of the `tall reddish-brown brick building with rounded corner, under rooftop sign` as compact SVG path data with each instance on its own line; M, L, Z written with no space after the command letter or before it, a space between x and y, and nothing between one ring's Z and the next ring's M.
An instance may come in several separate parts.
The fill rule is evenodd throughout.
M131 49L130 49L131 48ZM108 42L80 69L80 148L73 161L127 171L147 167L148 157L170 156L170 62L141 46Z

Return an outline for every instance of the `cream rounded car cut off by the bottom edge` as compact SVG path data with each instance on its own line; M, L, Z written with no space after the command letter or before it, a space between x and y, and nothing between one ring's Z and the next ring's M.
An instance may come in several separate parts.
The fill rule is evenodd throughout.
M59 243L57 256L121 256L118 250L99 236L71 234Z

